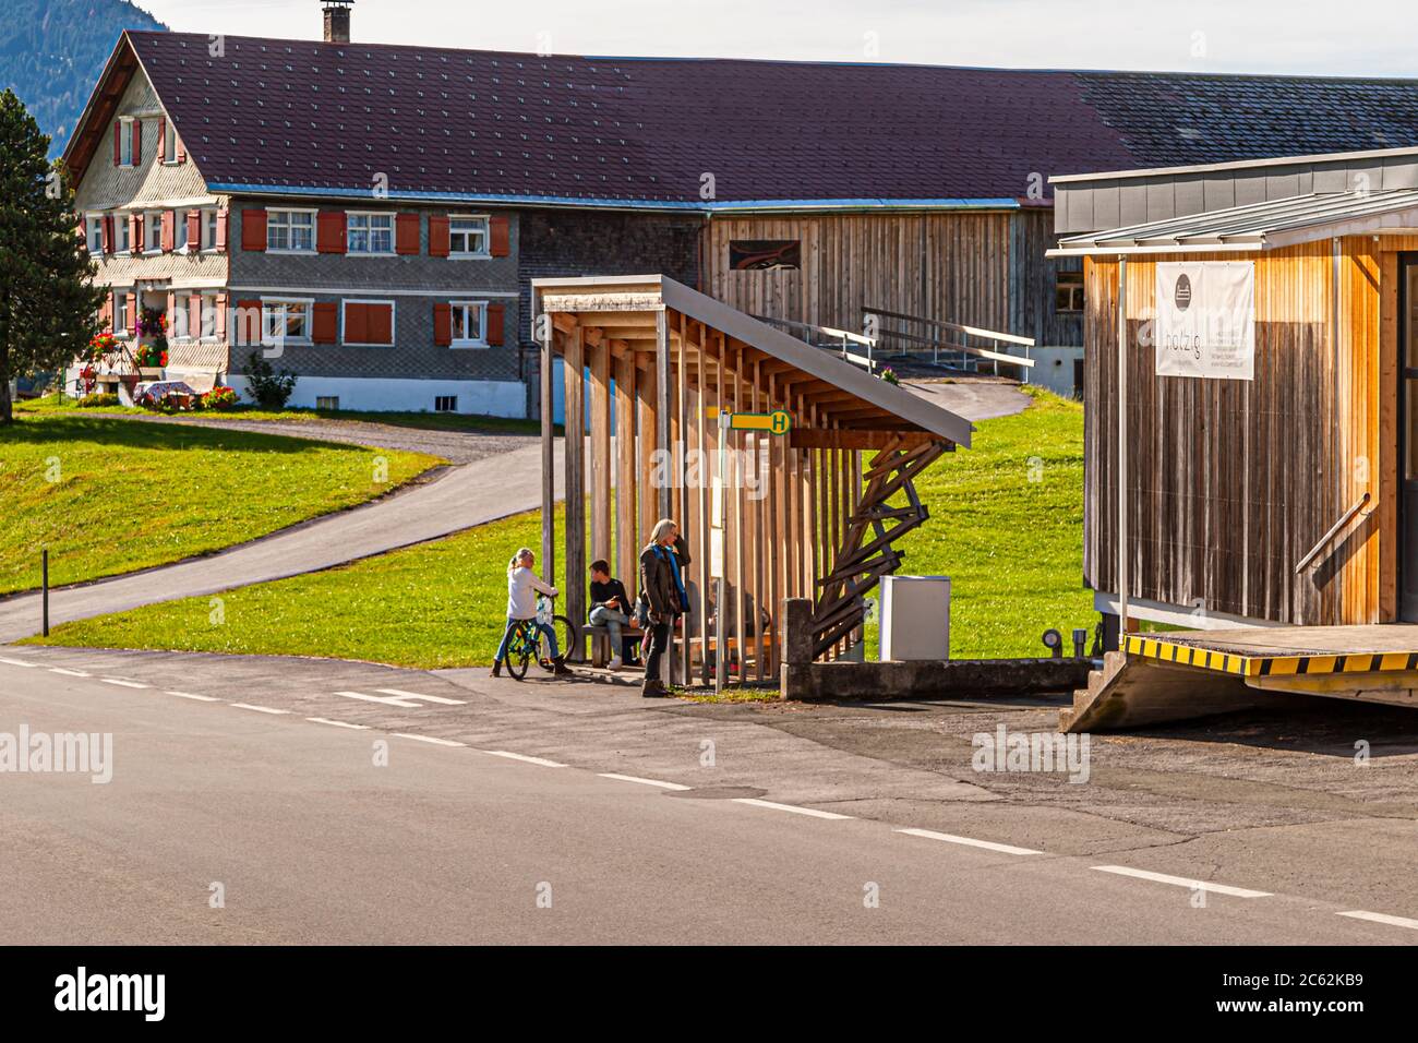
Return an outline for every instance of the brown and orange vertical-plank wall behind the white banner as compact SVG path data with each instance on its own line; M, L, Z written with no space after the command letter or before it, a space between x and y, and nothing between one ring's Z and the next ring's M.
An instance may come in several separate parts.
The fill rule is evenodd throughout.
M1251 382L1159 377L1150 345L1156 263L1241 258L1129 260L1132 597L1285 623L1392 619L1384 561L1394 528L1384 509L1295 573L1364 491L1380 505L1394 501L1397 324L1380 335L1385 254L1373 237L1346 238L1340 250L1337 342L1330 241L1246 257L1256 261ZM1085 265L1083 569L1090 587L1109 593L1117 589L1117 271L1116 260Z

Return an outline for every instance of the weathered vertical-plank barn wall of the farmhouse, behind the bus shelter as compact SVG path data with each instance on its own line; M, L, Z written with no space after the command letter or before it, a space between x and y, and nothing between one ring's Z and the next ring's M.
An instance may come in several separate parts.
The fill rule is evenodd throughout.
M750 315L862 329L862 307L1008 331L1011 214L713 219L705 292ZM733 240L801 243L798 271L733 271ZM1041 245L1042 254L1042 245Z

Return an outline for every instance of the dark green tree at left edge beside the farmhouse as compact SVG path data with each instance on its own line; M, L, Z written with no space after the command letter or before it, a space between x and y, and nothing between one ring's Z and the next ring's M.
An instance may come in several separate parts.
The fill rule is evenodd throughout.
M96 332L104 299L74 189L48 150L24 104L0 94L0 426L14 420L11 377L68 365Z

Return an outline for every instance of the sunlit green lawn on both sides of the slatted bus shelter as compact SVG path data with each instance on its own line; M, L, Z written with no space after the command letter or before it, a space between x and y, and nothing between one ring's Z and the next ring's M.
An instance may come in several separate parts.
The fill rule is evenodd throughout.
M974 448L947 454L917 481L932 517L900 546L909 572L954 580L953 656L1039 656L1046 627L1066 639L1092 626L1081 589L1082 482L1082 407L1045 393L1018 416L978 424ZM50 643L486 666L502 636L508 558L540 542L537 515L518 515L227 592L221 623L199 597L67 624Z

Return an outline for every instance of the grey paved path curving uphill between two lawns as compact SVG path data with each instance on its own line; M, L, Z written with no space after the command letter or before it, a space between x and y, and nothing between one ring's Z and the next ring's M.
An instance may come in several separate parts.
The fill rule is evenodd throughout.
M557 467L557 474L562 474L562 467ZM512 453L450 468L432 481L414 484L384 500L282 529L207 558L54 590L50 593L50 622L58 626L140 605L328 569L438 539L540 504L542 447L533 440ZM0 600L0 643L38 633L40 616L38 595Z

